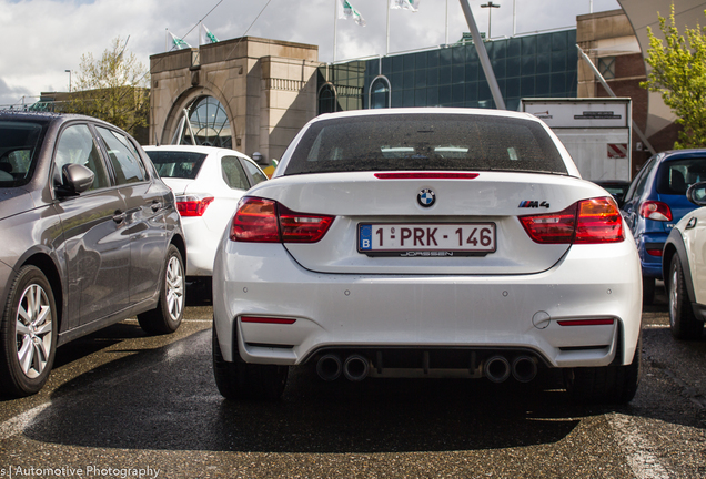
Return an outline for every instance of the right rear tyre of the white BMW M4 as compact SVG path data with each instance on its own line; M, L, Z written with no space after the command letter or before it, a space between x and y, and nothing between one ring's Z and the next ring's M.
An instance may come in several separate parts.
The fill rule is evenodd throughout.
M618 358L604 367L572 368L565 373L568 394L577 402L625 405L633 400L639 384L642 338L633 361L617 365Z

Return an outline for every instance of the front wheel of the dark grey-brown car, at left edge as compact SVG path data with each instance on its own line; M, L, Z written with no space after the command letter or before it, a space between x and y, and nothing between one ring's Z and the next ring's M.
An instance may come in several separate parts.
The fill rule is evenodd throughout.
M23 266L10 288L0 324L0 387L13 397L39 393L57 353L57 306L47 276Z

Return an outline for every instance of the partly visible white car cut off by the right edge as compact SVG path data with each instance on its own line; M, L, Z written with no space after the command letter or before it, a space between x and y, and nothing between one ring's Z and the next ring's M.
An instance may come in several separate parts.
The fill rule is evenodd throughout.
M706 320L706 182L692 185L686 197L697 206L672 228L662 268L669 299L669 326L677 339L698 339Z

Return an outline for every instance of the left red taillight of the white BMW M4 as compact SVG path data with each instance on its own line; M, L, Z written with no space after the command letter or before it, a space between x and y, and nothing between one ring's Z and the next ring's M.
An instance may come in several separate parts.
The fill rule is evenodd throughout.
M243 197L231 224L230 238L258 243L316 243L334 216L293 212L275 201Z

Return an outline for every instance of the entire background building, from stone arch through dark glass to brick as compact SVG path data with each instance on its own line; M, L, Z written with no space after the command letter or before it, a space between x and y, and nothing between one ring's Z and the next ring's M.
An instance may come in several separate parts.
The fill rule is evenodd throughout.
M632 99L633 174L677 139L674 114L639 86L646 79L646 27L658 32L668 0L618 0L623 9L579 16L577 28L485 42L505 104L523 98L608 96L577 54L578 44L617 96ZM677 24L695 27L706 2L676 6ZM689 21L693 24L689 24ZM232 147L262 164L281 157L316 114L389 106L494 108L475 47L457 43L324 64L317 47L244 37L160 53L152 73L149 142Z

